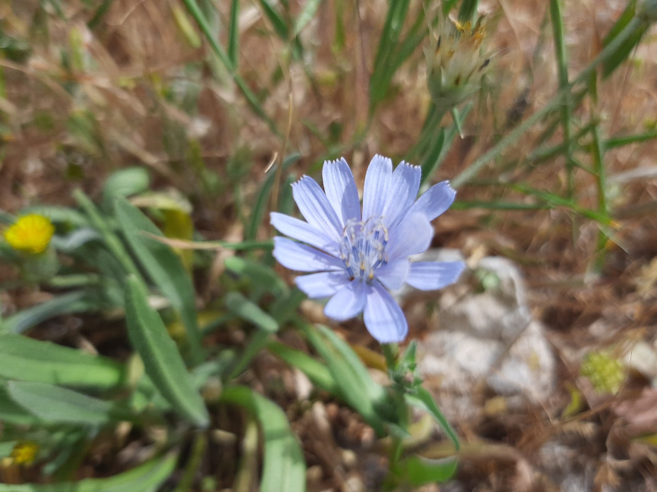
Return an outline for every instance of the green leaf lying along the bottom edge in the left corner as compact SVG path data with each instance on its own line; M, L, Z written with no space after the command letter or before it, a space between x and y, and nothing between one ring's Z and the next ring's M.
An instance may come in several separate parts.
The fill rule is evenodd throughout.
M108 478L86 478L73 483L41 485L5 485L0 483L0 492L155 492L171 476L177 455L157 457L129 470Z

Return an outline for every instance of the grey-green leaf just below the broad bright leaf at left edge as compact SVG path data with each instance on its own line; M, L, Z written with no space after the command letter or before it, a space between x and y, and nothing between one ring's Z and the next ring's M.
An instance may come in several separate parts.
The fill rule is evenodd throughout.
M52 384L9 381L9 396L26 411L46 422L102 425L112 420L134 420L134 415L110 402Z

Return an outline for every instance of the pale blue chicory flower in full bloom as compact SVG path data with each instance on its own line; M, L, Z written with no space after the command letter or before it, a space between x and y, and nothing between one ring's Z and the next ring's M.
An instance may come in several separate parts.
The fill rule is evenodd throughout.
M416 201L420 168L374 155L363 189L363 211L353 174L344 158L324 163L324 190L309 176L292 184L292 196L306 222L271 213L271 224L292 237L274 237L275 258L298 272L310 298L330 297L328 318L344 321L363 312L365 327L380 343L401 342L408 322L388 290L403 283L430 291L454 283L463 262L411 262L428 249L430 221L446 211L456 192L440 182Z

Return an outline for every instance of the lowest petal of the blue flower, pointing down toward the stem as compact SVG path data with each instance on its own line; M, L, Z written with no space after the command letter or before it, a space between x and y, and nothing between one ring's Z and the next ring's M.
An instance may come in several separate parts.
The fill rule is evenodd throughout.
M409 331L403 311L383 285L374 282L367 293L365 327L380 343L401 342Z

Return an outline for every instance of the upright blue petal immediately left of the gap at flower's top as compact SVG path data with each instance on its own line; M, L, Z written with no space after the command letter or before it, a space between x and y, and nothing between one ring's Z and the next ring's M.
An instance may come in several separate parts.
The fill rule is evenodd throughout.
M325 161L322 169L324 191L342 226L348 220L361 220L361 202L351 169L344 158Z

